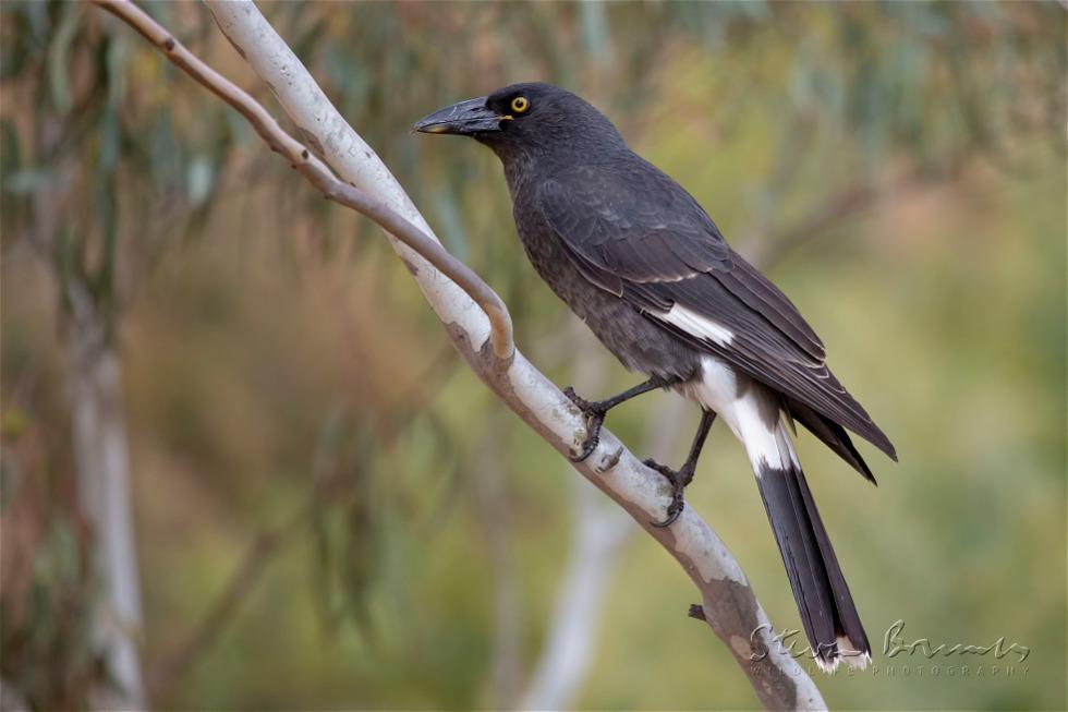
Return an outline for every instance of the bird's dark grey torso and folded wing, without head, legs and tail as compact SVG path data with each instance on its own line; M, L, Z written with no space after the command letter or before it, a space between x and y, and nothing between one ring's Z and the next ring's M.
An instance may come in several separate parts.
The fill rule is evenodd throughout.
M550 152L512 167L509 188L535 269L629 367L663 371L636 366L633 353L668 335L672 352L723 359L895 456L793 303L655 166L626 147Z

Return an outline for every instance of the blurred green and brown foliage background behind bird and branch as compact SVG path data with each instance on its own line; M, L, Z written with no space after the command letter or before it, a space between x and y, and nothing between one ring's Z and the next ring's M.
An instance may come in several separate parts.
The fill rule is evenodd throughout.
M145 8L283 118L203 7ZM901 460L860 446L874 488L800 438L876 648L816 678L832 707L1065 709L1060 4L262 10L561 386L634 377L526 264L491 154L409 132L447 102L577 90L799 305ZM0 40L5 709L113 678L94 427L129 452L154 708L755 705L683 572L470 373L366 220L98 9L5 1ZM696 420L657 394L610 427L676 462ZM797 628L725 429L688 499ZM887 657L896 620L1031 652Z

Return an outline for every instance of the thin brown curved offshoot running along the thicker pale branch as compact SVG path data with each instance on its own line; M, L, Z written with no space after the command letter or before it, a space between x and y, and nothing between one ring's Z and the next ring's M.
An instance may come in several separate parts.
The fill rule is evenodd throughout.
M493 328L494 352L499 359L511 355L512 322L500 297L468 265L457 260L436 240L398 215L389 206L355 185L338 180L330 169L299 141L286 133L267 110L247 92L205 64L178 41L173 35L153 20L130 0L92 0L120 17L154 44L173 64L207 87L213 94L236 109L256 133L267 142L271 150L281 154L290 165L307 178L323 194L336 203L350 207L380 225L398 240L416 251L441 274L463 289L486 313Z

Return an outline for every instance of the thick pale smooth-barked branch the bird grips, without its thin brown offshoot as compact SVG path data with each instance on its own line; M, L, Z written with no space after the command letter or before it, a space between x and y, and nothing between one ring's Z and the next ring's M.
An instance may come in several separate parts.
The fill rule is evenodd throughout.
M289 46L251 0L206 0L235 49L270 87L301 136L345 181L384 201L433 236L429 226L378 156L337 111ZM446 325L457 349L498 396L561 454L575 451L585 426L574 406L515 350L494 355L489 323L477 305L420 255L391 240ZM825 709L812 679L772 638L767 615L723 541L687 507L668 529L650 524L664 516L668 487L609 432L577 468L623 507L679 560L702 593L708 626L728 645L768 708ZM760 660L760 664L754 664ZM711 686L714 688L714 686Z

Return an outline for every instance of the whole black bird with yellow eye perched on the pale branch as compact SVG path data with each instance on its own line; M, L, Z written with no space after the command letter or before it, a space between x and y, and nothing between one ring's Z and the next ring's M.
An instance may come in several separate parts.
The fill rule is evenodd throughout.
M678 183L627 147L611 122L547 84L515 84L415 124L471 136L505 166L523 248L556 294L623 365L650 376L587 401L588 457L610 408L672 388L702 408L685 463L646 461L673 485L669 526L683 507L716 415L742 442L801 620L824 669L863 667L867 636L790 438L800 422L864 478L872 471L846 429L889 457L894 446L827 369L823 342L797 307L724 241Z

